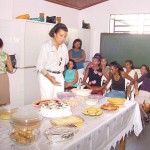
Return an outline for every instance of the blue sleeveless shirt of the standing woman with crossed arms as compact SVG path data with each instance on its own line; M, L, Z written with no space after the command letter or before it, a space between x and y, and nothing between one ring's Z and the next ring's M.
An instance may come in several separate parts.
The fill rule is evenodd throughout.
M72 49L72 57L73 58L80 58L82 57L82 49L79 49L79 51L75 51ZM77 69L83 69L84 68L84 61L76 62Z

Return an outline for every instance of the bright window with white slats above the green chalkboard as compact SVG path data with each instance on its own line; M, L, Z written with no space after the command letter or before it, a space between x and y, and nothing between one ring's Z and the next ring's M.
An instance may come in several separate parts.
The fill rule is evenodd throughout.
M150 34L150 14L111 15L110 33Z

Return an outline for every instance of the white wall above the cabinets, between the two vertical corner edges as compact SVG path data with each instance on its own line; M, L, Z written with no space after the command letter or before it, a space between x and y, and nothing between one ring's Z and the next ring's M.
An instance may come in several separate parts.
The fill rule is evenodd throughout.
M25 13L29 13L30 17L39 17L39 13L45 13L45 16L62 17L62 22L67 26L78 27L78 10L50 3L44 0L13 1L13 18Z

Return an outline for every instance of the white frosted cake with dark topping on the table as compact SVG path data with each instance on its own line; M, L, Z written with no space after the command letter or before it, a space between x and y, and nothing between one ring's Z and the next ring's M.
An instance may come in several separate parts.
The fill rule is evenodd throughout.
M48 101L47 103L42 104L40 113L43 117L48 118L66 117L72 115L71 107L59 100Z

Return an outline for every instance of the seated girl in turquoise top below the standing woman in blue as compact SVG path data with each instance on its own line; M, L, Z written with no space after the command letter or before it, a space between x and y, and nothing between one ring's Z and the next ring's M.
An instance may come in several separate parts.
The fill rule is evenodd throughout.
M65 91L78 86L78 71L76 70L76 64L73 60L69 60L67 64L67 70L64 73L65 78Z

